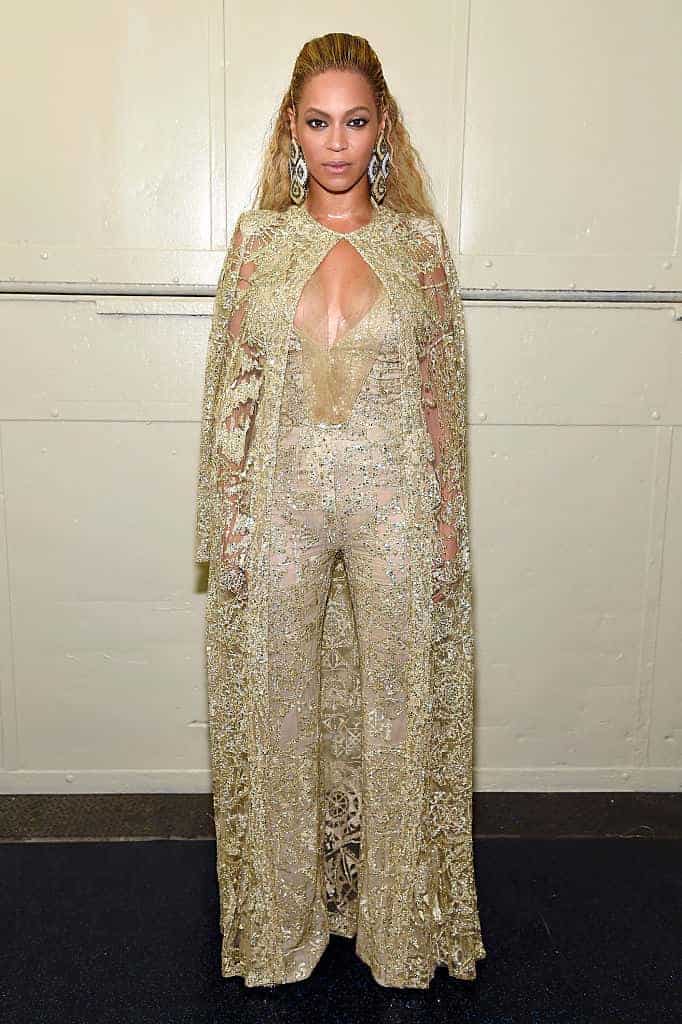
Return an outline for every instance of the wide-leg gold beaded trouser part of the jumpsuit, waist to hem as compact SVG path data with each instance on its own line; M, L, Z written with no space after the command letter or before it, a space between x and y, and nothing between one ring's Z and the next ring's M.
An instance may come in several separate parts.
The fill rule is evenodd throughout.
M321 641L332 569L350 586L361 684L358 951L381 965L390 878L406 809L408 538L397 446L317 424L281 438L268 579L268 713L274 752L267 827L289 980L329 938L323 878ZM339 723L343 729L343 723Z

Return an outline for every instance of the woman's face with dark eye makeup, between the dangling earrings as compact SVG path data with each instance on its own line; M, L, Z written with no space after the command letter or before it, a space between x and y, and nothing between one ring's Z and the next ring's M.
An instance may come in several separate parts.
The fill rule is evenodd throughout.
M303 150L310 178L326 191L351 189L367 174L384 123L368 80L341 69L315 75L303 86L296 113L294 118L289 109L291 133Z

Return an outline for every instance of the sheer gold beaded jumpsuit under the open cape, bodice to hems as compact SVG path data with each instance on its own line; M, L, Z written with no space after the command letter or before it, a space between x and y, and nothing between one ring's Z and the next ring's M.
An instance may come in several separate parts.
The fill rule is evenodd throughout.
M343 844L346 869L359 868L358 952L371 947L381 963L382 948L388 948L390 908L382 899L381 876L399 845L393 780L406 735L399 387L397 338L383 290L329 347L308 330L292 333L274 475L268 636L278 767L297 783L296 801L286 809L289 841L278 864L291 896L287 944L293 973L315 958L328 939L325 843ZM356 792L348 791L346 778L325 779L318 772L321 639L338 556L345 562L359 644L361 716L351 741L359 741L364 770ZM325 763L334 764L328 758ZM343 834L329 827L325 834L325 794L336 794L344 809L346 802L356 803L365 824L361 861L361 838L349 835L347 817Z

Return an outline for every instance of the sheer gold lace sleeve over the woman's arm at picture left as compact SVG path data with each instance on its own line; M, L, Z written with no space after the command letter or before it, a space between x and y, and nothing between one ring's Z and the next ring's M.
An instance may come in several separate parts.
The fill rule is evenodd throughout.
M248 293L257 237L237 222L216 289L202 403L197 500L197 562L219 560L222 586L245 586L250 527L246 466L254 429L262 359L249 337Z

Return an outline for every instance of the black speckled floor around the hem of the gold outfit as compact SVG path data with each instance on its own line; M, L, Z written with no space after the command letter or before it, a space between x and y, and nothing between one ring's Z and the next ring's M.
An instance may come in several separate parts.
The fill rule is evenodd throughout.
M473 982L383 988L332 936L305 981L219 969L211 842L0 845L6 1024L682 1020L682 841L477 840Z

